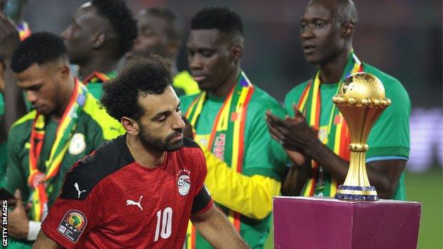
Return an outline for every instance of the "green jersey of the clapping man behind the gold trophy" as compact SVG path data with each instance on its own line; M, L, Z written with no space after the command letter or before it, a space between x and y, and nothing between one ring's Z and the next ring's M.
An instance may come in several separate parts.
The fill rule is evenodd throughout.
M408 160L410 150L409 116L411 103L408 92L403 85L394 77L378 70L376 67L363 63L363 72L375 75L383 82L386 96L392 104L383 111L378 118L371 133L369 133L367 144L369 150L366 153L366 162L376 160ZM304 82L292 89L285 97L285 109L291 116L294 115L292 104L297 104L303 90L308 82ZM332 110L332 96L337 94L336 84L322 84L320 87L322 98L322 112L320 114L319 139L324 138L324 130L329 125L329 114ZM329 100L329 101L328 101ZM405 176L401 175L393 199L405 200Z

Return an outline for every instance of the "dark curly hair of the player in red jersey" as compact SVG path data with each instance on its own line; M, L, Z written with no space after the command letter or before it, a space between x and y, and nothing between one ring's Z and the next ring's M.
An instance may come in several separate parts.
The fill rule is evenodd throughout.
M138 96L163 94L171 82L170 64L162 57L132 57L117 77L103 84L102 106L116 120L126 116L138 121L143 114Z

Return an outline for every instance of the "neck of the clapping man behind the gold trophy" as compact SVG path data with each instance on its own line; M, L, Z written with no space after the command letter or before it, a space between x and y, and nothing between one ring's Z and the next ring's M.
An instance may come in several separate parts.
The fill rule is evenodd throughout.
M333 84L340 81L350 52L351 46L346 47L339 55L333 57L323 65L319 65L322 84Z

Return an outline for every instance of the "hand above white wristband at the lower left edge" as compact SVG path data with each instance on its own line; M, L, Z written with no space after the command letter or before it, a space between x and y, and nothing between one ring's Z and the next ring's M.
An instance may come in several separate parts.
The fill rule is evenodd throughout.
M16 203L15 208L8 214L8 231L13 237L26 239L29 229L28 215L21 201L20 190L17 189L14 195Z

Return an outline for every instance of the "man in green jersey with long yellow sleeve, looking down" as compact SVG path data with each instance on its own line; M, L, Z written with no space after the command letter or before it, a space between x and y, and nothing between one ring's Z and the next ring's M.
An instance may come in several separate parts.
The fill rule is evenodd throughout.
M263 248L270 230L272 198L280 192L286 155L270 138L267 109L283 107L252 84L240 66L244 49L240 16L227 8L204 8L191 21L187 52L201 94L182 97L207 160L205 184L216 204L251 248ZM189 229L187 248L209 248Z

